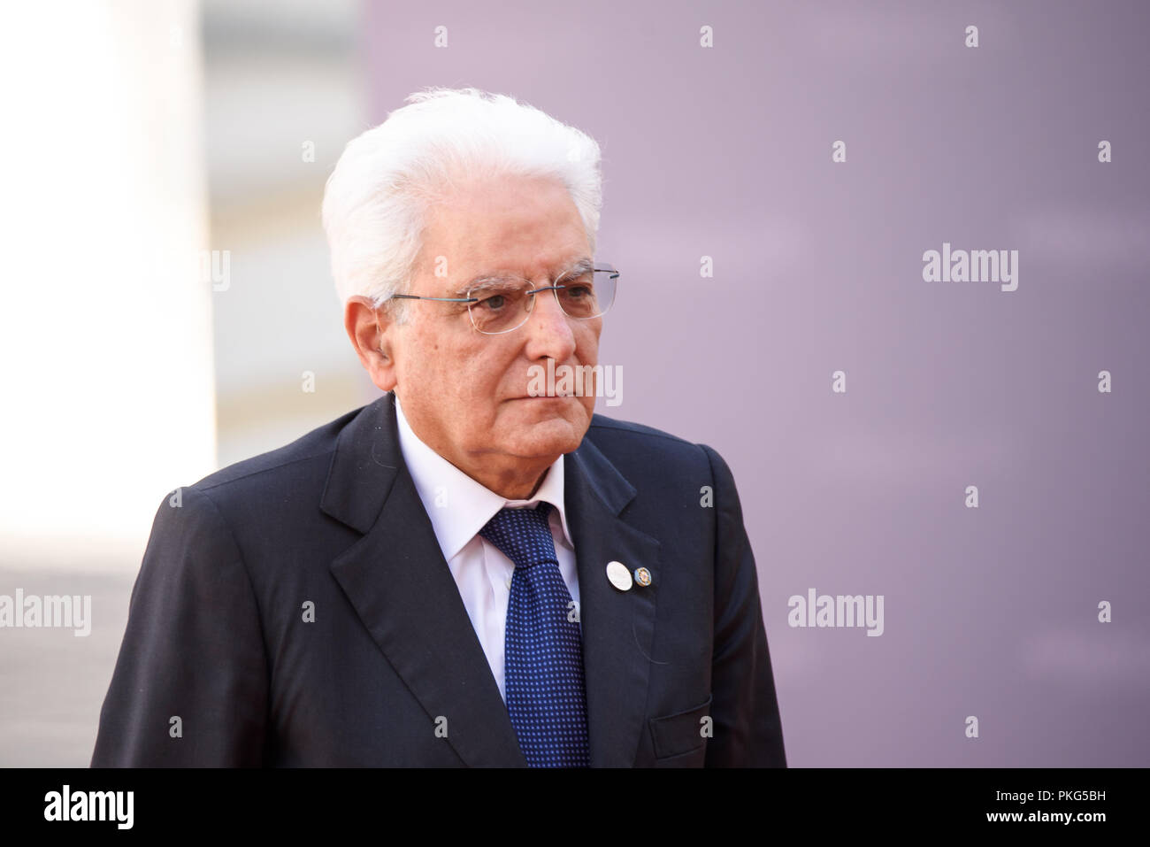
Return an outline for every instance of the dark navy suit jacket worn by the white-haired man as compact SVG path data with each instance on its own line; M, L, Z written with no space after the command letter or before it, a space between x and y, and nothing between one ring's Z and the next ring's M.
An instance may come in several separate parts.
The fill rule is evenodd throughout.
M565 486L592 766L785 766L722 458L595 415ZM178 490L132 589L93 766L526 764L391 394ZM651 585L619 590L612 560Z

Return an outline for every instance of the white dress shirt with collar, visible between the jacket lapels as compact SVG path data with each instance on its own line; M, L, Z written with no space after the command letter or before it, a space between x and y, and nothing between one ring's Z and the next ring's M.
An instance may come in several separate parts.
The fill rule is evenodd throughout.
M504 640L507 631L507 603L514 563L494 544L480 535L480 529L500 509L535 508L544 501L551 510L551 536L555 542L559 573L578 608L578 577L575 572L575 545L567 527L564 508L564 457L547 468L547 474L531 499L505 499L476 482L435 450L420 441L404 417L396 397L399 424L399 449L415 481L423 509L431 518L443 557L459 586L459 596L480 638L480 644L491 665L491 673L504 700Z

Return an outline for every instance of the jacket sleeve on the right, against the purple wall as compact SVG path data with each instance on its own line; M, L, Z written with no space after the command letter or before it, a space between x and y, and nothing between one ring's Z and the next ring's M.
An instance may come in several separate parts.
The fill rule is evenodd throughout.
M700 445L714 479L714 651L706 766L785 768L759 582L735 479L722 457Z

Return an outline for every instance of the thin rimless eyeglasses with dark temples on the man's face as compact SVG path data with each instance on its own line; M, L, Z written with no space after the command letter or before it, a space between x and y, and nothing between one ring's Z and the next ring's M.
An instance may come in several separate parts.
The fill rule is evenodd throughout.
M612 265L601 265L565 275L554 285L535 288L530 280L518 276L500 276L483 280L467 290L467 297L420 297L417 295L392 295L388 300L439 300L440 303L466 303L471 325L484 335L499 335L519 329L531 315L535 296L543 291L554 291L559 308L568 318L589 320L598 318L615 302L619 270ZM386 300L384 300L386 302Z

